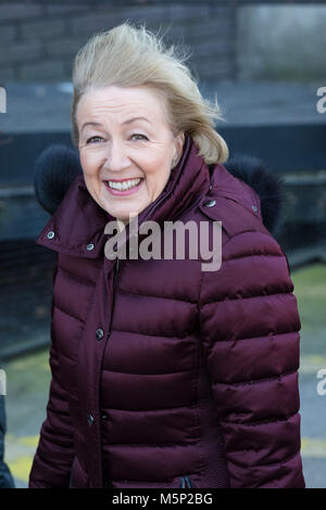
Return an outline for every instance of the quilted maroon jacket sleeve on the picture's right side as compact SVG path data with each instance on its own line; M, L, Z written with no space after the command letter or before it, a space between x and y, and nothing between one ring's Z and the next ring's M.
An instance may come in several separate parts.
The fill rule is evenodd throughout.
M200 331L230 487L303 488L298 385L301 322L288 260L247 231L203 271Z

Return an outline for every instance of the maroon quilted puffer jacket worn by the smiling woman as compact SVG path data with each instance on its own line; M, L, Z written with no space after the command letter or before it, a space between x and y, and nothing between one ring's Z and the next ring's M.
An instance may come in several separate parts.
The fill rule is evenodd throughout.
M301 323L259 195L187 137L139 224L222 221L221 268L110 260L108 219L80 175L37 239L58 265L29 487L304 487Z

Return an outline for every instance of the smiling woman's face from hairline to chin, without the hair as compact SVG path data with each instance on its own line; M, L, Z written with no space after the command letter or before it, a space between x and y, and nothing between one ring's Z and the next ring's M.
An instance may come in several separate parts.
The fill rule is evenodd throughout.
M184 133L173 136L164 106L147 87L92 89L79 100L78 149L87 189L124 224L160 195L181 155Z

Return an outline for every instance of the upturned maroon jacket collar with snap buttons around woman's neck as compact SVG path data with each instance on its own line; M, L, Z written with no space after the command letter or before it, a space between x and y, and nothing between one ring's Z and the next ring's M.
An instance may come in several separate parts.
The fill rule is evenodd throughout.
M210 170L190 136L184 143L183 155L171 170L167 183L154 202L138 216L142 221L161 224L173 221L200 201L210 188ZM100 255L110 234L104 233L108 221L115 218L103 211L91 197L84 176L78 176L68 188L54 215L49 219L36 243L67 255L96 258ZM130 237L126 229L126 242Z

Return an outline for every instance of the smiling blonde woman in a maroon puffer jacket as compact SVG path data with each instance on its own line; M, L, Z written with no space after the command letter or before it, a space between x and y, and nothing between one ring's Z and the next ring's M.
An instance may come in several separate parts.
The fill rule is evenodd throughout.
M58 179L73 179L37 239L58 264L29 487L304 487L297 299L259 195L222 165L217 104L173 49L127 23L79 50L73 84L83 174L59 148L37 174L51 212ZM106 224L125 233L115 250L130 247L134 216L139 233L191 220L210 239L222 221L220 269L135 247L105 256Z

